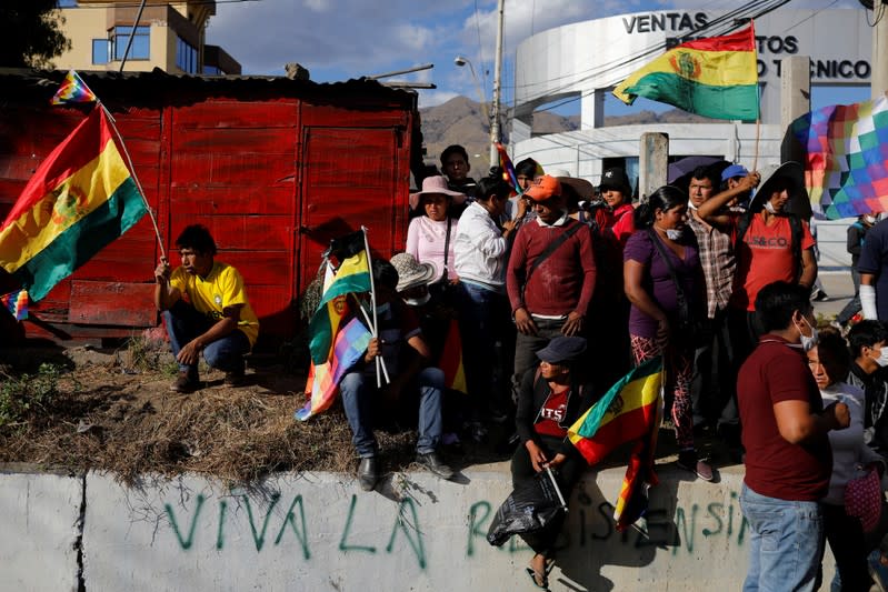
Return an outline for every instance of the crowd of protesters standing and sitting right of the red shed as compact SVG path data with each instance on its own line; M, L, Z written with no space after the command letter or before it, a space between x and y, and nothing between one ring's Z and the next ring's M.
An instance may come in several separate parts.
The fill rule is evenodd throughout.
M441 445L485 442L499 424L516 485L549 469L569 493L582 463L568 427L661 355L677 466L717 478L698 453L702 431L746 464L745 590L816 589L827 541L832 589L868 590L867 556L886 529L846 513L845 491L861 472L885 472L888 330L849 328L852 303L838 330L818 332L816 241L794 207L807 202L800 165L699 167L636 202L621 169L596 188L526 159L516 194L498 168L469 178L461 147L445 150L441 168L410 198L406 252L375 261L385 331L342 380L363 489L380 478L370 418L397 413L392 402L413 389L419 464L449 479ZM872 222L861 217L855 232ZM453 328L466 379L455 405L438 369ZM379 404L365 392L377 357L392 373ZM538 588L559 526L525 536Z

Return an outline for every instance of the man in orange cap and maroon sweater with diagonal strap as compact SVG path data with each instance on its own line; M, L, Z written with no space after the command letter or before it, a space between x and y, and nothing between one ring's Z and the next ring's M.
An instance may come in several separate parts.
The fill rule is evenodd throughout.
M518 328L512 384L536 363L536 352L556 335L583 335L595 290L589 227L567 213L561 183L543 175L525 192L537 218L515 238L506 288Z

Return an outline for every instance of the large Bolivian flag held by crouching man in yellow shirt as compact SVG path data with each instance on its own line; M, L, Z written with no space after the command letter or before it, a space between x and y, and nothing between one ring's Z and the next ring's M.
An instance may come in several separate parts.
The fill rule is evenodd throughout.
M40 164L0 225L0 267L38 301L147 211L97 107Z

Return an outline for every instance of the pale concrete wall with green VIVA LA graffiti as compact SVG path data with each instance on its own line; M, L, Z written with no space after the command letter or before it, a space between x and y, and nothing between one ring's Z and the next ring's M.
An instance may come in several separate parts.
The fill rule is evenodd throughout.
M711 484L661 466L647 535L613 528L623 471L588 473L578 485L552 589L737 590L749 539L741 468ZM90 592L523 590L532 552L517 539L500 549L485 539L510 489L505 463L472 468L457 482L393 473L371 493L337 474L280 474L253 490L194 475L130 489L98 473L1 474L0 512L9 519L0 589L77 590L80 562ZM827 559L827 578L831 565Z

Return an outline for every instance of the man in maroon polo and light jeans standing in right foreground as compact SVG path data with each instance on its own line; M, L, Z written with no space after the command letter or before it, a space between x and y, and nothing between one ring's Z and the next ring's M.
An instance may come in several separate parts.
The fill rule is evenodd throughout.
M822 513L832 453L827 433L848 427L845 403L824 409L805 351L817 343L808 288L774 282L758 292L765 334L740 368L737 398L749 522L744 591L814 590L822 554Z

